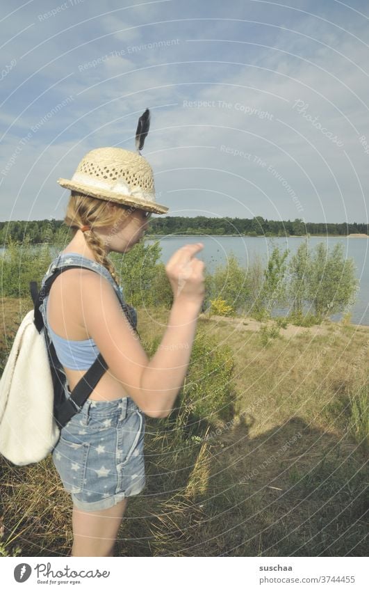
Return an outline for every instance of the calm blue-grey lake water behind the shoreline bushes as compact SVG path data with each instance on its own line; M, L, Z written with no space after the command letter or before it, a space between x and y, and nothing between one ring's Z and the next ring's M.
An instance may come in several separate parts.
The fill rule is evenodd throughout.
M261 255L265 262L272 252L274 246L280 249L288 249L293 255L304 237L284 238L252 238L252 237L231 237L231 236L171 236L159 237L161 244L161 260L164 263L170 259L172 254L184 244L202 242L204 249L197 255L197 258L204 260L206 269L213 271L215 265L227 264L227 257L233 253L239 260L240 265L247 269L256 255ZM369 240L368 238L348 237L311 237L309 245L313 248L319 242L327 244L331 249L338 242L343 244L345 256L354 259L356 265L356 276L360 281L359 292L356 294L356 302L352 308L352 322L354 324L369 325ZM147 244L153 244L153 239L146 239ZM3 249L0 249L0 252ZM339 316L333 316L338 320Z

